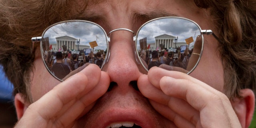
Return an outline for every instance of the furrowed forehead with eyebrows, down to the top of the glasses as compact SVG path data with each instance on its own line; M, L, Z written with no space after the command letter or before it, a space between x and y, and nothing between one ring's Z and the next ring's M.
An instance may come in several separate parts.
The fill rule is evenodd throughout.
M143 23L164 16L188 18L201 28L205 25L207 28L204 29L212 29L212 24L206 23L206 19L212 19L206 17L209 16L207 10L198 8L193 0L100 0L88 1L86 4L79 1L76 4L86 7L72 6L73 19L100 24L107 33L116 28L128 28L136 32Z

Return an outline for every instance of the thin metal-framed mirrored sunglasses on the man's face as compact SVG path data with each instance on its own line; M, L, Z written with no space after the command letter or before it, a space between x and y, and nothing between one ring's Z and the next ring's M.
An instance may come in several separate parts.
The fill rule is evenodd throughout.
M146 71L158 66L190 74L202 55L203 34L212 34L218 40L211 30L202 30L196 22L181 17L150 20L136 35L126 28L107 35L94 22L68 20L49 26L42 37L33 37L31 49L35 42L40 42L45 67L54 78L63 81L85 63L97 64L102 69L110 56L110 34L117 30L132 32L136 51L131 54L136 53L138 64Z

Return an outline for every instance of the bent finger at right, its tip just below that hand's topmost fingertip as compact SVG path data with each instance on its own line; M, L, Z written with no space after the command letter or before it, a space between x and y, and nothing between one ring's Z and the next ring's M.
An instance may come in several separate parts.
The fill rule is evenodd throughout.
M160 88L166 95L182 98L200 111L200 122L203 127L224 128L239 125L231 123L238 119L226 95L207 84L164 76L160 80Z

